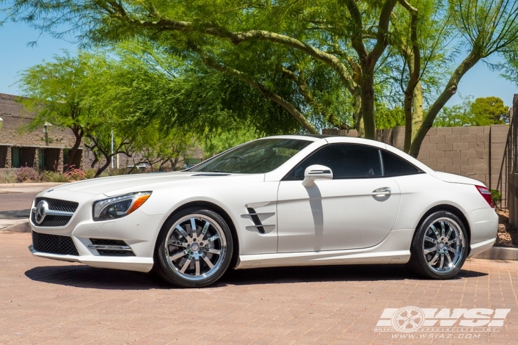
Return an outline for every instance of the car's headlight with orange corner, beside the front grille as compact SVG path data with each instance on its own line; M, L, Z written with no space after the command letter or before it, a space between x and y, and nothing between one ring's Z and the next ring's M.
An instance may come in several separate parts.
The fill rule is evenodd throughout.
M93 203L93 220L125 217L142 206L150 196L151 192L138 192L97 200Z

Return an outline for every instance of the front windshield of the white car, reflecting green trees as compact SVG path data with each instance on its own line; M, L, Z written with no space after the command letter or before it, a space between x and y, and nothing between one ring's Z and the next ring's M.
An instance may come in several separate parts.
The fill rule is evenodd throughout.
M264 174L275 170L312 141L299 139L262 139L250 141L190 171Z

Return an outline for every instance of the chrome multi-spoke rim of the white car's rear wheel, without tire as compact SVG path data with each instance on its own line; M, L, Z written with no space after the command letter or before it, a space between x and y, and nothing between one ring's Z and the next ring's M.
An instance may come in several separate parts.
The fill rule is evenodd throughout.
M437 274L448 274L462 262L466 239L453 219L435 219L426 229L423 254L428 267Z

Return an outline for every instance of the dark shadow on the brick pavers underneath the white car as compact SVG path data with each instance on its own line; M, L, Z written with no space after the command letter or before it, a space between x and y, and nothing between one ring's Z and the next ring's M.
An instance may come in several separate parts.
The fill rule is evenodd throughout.
M84 265L40 266L27 270L26 277L37 282L99 288L107 290L148 290L171 288L169 284L147 273L108 270ZM461 270L453 279L486 276L473 270ZM421 280L403 265L350 265L254 268L228 270L213 286L253 285L303 282L352 282L381 280Z

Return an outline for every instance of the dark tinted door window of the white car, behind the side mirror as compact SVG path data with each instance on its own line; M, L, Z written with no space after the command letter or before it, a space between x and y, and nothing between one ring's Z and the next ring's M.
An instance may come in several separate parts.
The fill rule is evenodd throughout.
M320 164L331 168L333 179L381 177L377 148L354 144L328 145L314 152L291 170L285 180L302 180L308 166Z

